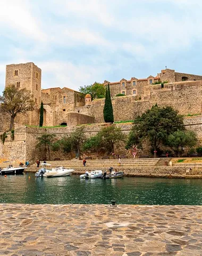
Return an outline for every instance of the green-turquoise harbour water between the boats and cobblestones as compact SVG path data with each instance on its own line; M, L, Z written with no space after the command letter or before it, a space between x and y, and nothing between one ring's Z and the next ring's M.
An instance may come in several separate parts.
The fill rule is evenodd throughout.
M30 176L30 179L29 179ZM202 180L36 178L33 173L0 176L0 203L202 205Z

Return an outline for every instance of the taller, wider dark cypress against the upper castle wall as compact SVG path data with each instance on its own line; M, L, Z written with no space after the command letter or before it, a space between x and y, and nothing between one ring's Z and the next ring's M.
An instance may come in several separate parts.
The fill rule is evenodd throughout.
M106 123L113 123L114 122L114 115L113 115L113 107L112 107L112 100L111 100L111 93L110 93L110 85L108 84L106 95L105 95L105 106L103 109L103 116L104 121Z

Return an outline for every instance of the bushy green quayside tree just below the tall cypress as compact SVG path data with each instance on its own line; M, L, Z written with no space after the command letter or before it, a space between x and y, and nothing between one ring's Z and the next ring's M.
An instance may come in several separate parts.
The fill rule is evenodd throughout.
M125 141L125 135L121 129L115 125L103 128L98 134L102 137L103 147L109 153L114 153L115 146L119 147L121 142Z

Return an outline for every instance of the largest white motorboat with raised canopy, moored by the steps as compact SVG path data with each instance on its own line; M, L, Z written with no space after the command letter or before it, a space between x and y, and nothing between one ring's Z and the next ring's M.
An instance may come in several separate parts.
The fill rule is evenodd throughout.
M57 166L56 168L51 169L51 164L42 163L43 168L35 173L36 177L62 177L72 174L73 169L65 169L63 166Z

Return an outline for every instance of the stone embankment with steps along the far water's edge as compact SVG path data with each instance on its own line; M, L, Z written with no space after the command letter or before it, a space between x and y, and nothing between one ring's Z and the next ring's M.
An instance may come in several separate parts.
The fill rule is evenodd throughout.
M121 166L117 159L88 160L86 167L83 167L82 160L72 161L49 161L52 167L63 165L66 168L74 169L73 174L83 174L86 171L108 170L110 166L116 171L123 171L128 177L156 177L156 178L202 178L202 166L200 165L174 165L167 166L170 158L146 158L146 159L121 159ZM28 172L36 172L36 165L27 169Z

